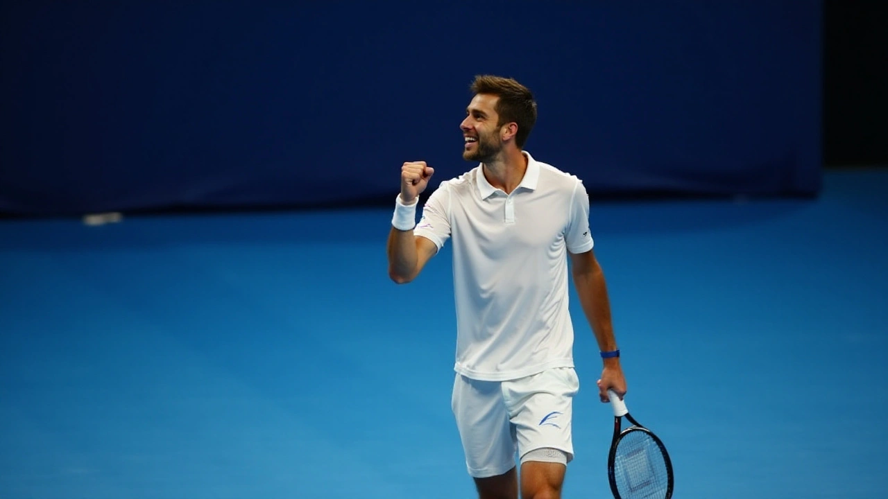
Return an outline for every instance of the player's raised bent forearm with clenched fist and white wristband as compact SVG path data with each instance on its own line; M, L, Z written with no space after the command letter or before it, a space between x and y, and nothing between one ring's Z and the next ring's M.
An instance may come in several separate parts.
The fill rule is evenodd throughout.
M438 252L434 242L413 234L419 194L429 185L434 170L425 162L405 162L400 173L400 194L395 204L386 250L389 277L398 284L416 279L426 262Z

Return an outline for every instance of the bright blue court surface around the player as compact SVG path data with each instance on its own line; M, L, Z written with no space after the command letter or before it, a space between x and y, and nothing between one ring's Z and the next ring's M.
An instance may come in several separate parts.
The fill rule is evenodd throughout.
M471 498L450 253L391 210L0 222L0 498ZM817 200L595 202L633 414L678 499L888 494L888 170ZM612 413L574 308L577 457Z

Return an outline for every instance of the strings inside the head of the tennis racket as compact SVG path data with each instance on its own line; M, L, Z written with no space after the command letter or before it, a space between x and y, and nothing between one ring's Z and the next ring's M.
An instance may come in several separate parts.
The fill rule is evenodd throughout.
M666 461L660 446L646 432L628 432L617 443L614 479L622 499L666 497Z

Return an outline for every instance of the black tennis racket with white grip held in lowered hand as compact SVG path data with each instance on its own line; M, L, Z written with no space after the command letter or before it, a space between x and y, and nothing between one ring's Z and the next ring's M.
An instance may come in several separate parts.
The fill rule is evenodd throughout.
M607 480L616 499L670 499L672 462L662 441L630 416L626 403L608 390L614 407L614 440L607 455ZM622 418L632 424L622 430Z

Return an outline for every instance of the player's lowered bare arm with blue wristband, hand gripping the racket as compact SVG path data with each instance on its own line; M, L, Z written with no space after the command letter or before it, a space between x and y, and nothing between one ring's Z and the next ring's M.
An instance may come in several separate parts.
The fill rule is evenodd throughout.
M616 352L614 325L611 322L610 300L607 298L605 274L601 270L595 253L590 249L584 253L571 254L571 272L576 293L580 297L583 313L589 321L601 352ZM608 353L605 353L608 355ZM610 355L613 355L612 353ZM599 399L609 401L607 390L613 390L620 398L626 393L626 379L622 374L619 356L603 358L604 368L599 379Z

